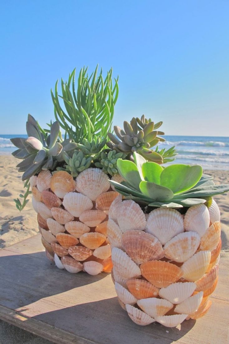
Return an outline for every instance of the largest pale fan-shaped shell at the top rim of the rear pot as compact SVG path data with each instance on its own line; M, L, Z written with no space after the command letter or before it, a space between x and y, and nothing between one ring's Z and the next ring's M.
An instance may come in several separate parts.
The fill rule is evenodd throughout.
M92 201L110 189L109 178L98 168L82 171L75 180L76 191L88 196Z

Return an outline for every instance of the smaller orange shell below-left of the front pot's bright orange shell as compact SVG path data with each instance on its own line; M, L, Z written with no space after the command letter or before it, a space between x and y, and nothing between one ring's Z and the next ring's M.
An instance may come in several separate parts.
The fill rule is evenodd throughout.
M126 285L137 300L156 297L159 292L157 287L142 279L131 278L126 281Z

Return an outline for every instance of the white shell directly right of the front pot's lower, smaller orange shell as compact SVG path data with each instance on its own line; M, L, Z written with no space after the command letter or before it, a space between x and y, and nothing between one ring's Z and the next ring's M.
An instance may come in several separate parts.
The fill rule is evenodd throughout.
M159 296L171 303L178 304L188 299L194 292L196 284L193 282L172 283L159 290Z

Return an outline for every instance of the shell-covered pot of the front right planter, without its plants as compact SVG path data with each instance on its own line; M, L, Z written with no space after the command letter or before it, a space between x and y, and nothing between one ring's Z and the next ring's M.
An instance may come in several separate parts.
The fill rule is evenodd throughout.
M156 208L145 215L134 201L111 204L108 239L118 300L138 325L174 327L209 309L219 269L220 212L215 201L185 215Z

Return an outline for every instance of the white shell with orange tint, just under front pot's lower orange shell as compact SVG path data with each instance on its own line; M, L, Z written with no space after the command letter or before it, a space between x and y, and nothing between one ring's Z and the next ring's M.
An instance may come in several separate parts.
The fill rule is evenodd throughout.
M143 312L152 316L152 318L164 315L173 308L173 304L171 302L157 298L137 300L137 305L143 310Z

